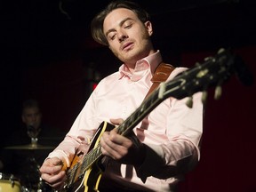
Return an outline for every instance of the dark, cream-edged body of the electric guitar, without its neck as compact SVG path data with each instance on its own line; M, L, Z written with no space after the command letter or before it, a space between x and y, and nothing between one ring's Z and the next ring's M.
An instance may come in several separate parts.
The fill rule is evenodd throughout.
M108 124L108 122L102 122L96 132L96 134L94 135L92 142L90 144L90 148L88 150L88 153L90 153L90 151L93 149L95 150L97 147L99 147L99 143L100 143L100 136L102 135L103 132L106 131L111 131L112 129L114 129L114 125L113 124ZM100 148L98 148L100 150ZM71 164L71 169L75 166L79 166L79 161L77 161L78 156L76 156ZM76 180L75 182L72 181L72 185L68 186L68 188L66 188L66 191L68 192L95 192L95 191L99 191L98 187L100 184L100 178L101 178L101 173L103 172L103 166L99 163L101 160L101 158L97 159L97 161L92 164L92 166L89 167L89 169L84 172L84 176L83 177L74 177L73 180ZM79 172L79 170L77 171Z

